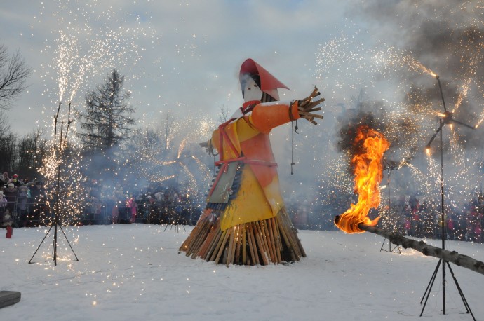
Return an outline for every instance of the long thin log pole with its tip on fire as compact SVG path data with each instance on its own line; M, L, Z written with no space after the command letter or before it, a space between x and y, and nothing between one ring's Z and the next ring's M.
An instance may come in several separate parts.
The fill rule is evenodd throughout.
M382 228L377 228L376 226L358 224L358 228L370 233L378 234L380 236L383 236L384 238L388 238L391 243L394 243L395 245L401 245L405 249L411 247L414 250L422 252L424 255L437 257L438 259L452 262L457 266L469 268L469 270L471 271L484 274L484 262L468 257L467 255L459 254L455 251L443 250L439 247L428 245L423 240L417 241L410 238L405 238L405 236L399 233L384 231L382 230Z

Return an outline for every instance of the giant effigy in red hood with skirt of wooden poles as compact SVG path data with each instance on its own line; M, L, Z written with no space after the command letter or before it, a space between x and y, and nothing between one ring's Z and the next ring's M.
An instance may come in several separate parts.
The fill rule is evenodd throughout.
M323 99L313 100L315 88L304 100L279 102L278 88L288 87L252 59L241 65L239 81L244 103L201 144L219 156L219 170L180 251L227 265L299 260L304 249L285 211L269 133L301 117L322 118L314 111Z

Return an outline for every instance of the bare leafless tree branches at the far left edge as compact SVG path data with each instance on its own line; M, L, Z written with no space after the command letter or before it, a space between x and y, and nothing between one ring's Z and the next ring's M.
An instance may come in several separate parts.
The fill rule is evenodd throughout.
M8 109L27 88L30 72L19 51L9 57L6 46L0 44L0 109Z

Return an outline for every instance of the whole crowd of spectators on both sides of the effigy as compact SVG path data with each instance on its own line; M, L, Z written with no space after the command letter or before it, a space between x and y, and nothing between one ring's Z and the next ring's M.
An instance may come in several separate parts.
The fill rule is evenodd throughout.
M121 184L103 184L91 179L84 184L86 202L79 217L69 224L196 224L204 202L195 191L180 184L150 184L128 190ZM288 212L300 229L334 229L332 219L344 212L356 198L340 202L335 193L320 200L291 202ZM48 208L43 182L8 172L0 174L0 226L40 226L53 217ZM330 205L329 205L330 204ZM337 209L335 209L337 205ZM445 232L448 240L484 243L484 198L476 196L462 208L446 207ZM371 214L371 213L370 213ZM441 238L441 207L416 195L401 195L382 214L382 224L392 231L417 238ZM384 226L385 227L385 226Z

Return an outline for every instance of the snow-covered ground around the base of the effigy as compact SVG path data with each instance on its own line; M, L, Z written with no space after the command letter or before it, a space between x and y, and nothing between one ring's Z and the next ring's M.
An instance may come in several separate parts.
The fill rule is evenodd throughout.
M57 266L53 231L28 264L47 229L15 229L12 239L1 230L0 290L19 291L22 300L0 309L0 320L472 320L448 270L442 315L441 268L419 317L438 259L380 251L378 235L300 231L302 261L227 268L178 254L191 226L165 228L65 227L79 261L60 233ZM446 244L484 261L482 244ZM484 320L484 275L451 267L474 316Z

